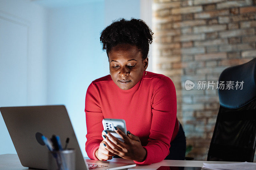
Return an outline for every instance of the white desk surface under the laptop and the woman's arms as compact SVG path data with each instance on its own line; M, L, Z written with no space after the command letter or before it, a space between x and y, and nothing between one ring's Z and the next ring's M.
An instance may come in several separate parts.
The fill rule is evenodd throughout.
M84 157L89 159L88 157ZM112 162L127 162L133 163L131 160L126 160L122 158L113 158L109 161ZM159 163L147 165L147 166L135 166L132 169L157 169L160 166L195 166L202 167L203 163L236 163L236 162L218 162L218 161L196 161L196 160L163 160ZM3 154L0 155L0 169L3 170L24 170L28 169L21 165L19 157L17 154Z

